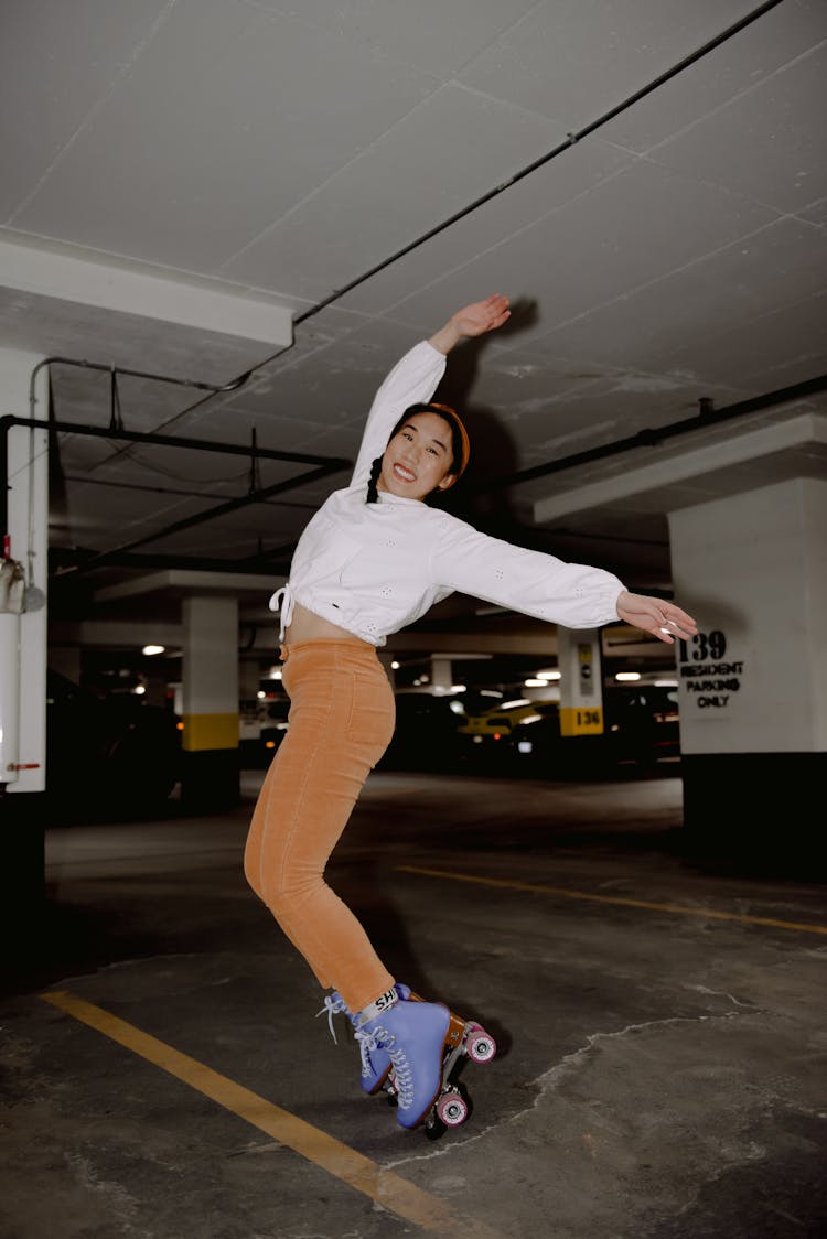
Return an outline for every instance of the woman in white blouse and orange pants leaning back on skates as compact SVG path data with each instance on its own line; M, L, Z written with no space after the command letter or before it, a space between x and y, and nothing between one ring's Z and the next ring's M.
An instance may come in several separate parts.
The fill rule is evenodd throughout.
M630 593L610 572L512 546L424 502L469 461L456 413L429 403L448 353L508 316L496 294L465 306L397 363L374 398L351 484L310 520L289 582L270 601L281 611L290 727L262 787L244 871L320 985L335 989L327 1010L352 1020L363 1088L376 1092L393 1068L405 1127L425 1118L441 1087L450 1012L396 984L324 881L393 732L377 647L454 590L572 628L624 620L670 643L697 632L679 607Z

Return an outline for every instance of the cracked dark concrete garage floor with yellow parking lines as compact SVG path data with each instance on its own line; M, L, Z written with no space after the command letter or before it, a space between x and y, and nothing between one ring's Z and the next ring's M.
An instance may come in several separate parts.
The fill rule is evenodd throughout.
M48 831L6 943L2 1239L827 1234L823 885L689 855L672 769L374 773L331 885L498 1042L430 1140L244 885L259 782Z

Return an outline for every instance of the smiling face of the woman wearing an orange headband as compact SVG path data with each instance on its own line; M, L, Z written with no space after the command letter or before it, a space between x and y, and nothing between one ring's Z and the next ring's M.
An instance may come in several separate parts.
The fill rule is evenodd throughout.
M454 481L451 427L438 413L414 413L389 440L377 491L424 499Z

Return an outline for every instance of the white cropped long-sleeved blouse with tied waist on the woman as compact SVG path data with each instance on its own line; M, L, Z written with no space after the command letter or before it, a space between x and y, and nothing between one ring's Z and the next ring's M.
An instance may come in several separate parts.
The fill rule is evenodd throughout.
M455 590L568 628L617 620L622 582L599 567L568 564L513 546L464 520L379 491L366 503L371 466L404 410L428 401L446 358L427 341L397 362L376 394L351 484L335 491L305 528L288 584L270 598L281 611L279 639L294 602L373 646L384 646Z

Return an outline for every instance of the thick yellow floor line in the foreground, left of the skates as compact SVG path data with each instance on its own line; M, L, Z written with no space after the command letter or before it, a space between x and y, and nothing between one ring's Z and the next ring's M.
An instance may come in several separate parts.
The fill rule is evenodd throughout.
M465 1237L469 1239L502 1239L502 1235L481 1222L462 1217L436 1197L429 1196L428 1192L414 1187L413 1183L392 1171L382 1170L369 1157L363 1157L362 1154L341 1141L325 1135L324 1131L305 1123L304 1119L298 1119L288 1110L281 1110L278 1105L273 1105L272 1101L267 1101L241 1084L236 1084L228 1077L213 1072L197 1059L180 1053L156 1037L141 1032L140 1028L126 1023L109 1011L104 1011L103 1007L86 1002L74 994L60 991L42 994L41 997L76 1020L89 1025L91 1028L102 1032L112 1041L125 1046L126 1049L131 1049L133 1053L140 1054L141 1058L169 1072L170 1075L184 1080L185 1084L217 1101L218 1105L231 1110L239 1119L267 1132L280 1145L286 1145L315 1166L327 1171L329 1175L334 1175L343 1183L363 1192L365 1196L371 1197L391 1213L396 1213L407 1222L413 1222L423 1230L434 1230L439 1234L455 1232L461 1234L464 1239ZM422 1132L419 1135L422 1136Z

